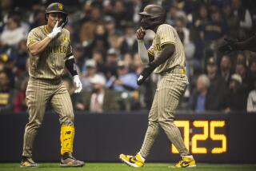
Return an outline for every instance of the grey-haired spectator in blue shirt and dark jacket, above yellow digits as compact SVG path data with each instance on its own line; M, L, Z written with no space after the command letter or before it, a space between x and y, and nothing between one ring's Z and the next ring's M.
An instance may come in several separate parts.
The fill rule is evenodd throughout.
M188 103L189 109L201 113L206 111L207 91L210 87L210 79L205 74L198 77L195 91L190 97Z

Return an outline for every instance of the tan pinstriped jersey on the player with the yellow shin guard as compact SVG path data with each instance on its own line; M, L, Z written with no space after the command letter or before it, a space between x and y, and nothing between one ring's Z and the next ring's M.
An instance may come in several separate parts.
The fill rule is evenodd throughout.
M30 31L27 38L29 48L35 42L40 42L46 38L49 32L46 26L38 26ZM61 78L66 57L70 56L72 48L70 46L70 32L62 29L57 38L46 47L42 53L29 58L29 74L32 78L54 79Z

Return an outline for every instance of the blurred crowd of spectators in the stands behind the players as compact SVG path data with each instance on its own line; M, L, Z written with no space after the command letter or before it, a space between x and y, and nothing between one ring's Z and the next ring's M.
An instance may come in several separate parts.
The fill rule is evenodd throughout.
M26 111L27 34L46 24L49 0L2 0L0 6L0 113ZM64 0L82 93L66 72L63 80L74 109L102 113L150 109L158 75L138 86L142 71L136 30L138 12L154 2L166 9L186 54L190 85L178 109L256 111L256 55L219 54L223 38L243 40L255 34L253 0ZM154 32L146 31L146 47ZM256 45L255 45L256 46ZM49 107L50 109L50 107Z

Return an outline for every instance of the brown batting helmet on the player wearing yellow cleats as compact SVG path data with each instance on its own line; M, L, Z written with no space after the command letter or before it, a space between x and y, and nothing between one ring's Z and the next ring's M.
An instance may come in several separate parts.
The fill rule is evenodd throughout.
M155 26L166 22L166 10L162 6L150 4L143 12L138 13L142 16L141 25L143 29L154 29Z

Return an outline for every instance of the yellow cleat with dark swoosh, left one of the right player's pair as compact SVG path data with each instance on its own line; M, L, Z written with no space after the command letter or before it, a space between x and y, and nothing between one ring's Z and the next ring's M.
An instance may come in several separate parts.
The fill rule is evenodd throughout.
M145 159L141 157L139 153L136 156L129 156L125 154L120 154L119 158L125 162L127 165L130 165L134 168L140 168L144 165Z

